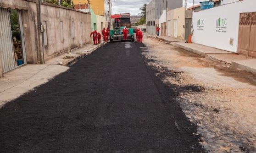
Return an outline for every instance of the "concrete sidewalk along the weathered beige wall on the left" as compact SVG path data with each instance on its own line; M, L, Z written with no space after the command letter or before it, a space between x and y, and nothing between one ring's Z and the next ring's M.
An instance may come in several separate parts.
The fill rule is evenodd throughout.
M45 64L21 66L9 71L0 78L0 108L8 101L48 82L50 79L68 70L76 60L91 54L100 45L88 44L82 48L59 55L45 61Z

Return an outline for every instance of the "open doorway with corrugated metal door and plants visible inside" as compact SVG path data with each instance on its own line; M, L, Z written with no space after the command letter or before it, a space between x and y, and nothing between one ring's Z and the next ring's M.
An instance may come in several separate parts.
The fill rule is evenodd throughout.
M0 58L4 73L27 63L21 11L0 8Z

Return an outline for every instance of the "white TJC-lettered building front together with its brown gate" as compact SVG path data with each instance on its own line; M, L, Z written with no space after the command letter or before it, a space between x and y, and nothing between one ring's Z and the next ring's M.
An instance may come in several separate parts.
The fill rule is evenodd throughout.
M193 12L192 41L256 57L256 7L252 5L255 0L236 0ZM223 10L228 11L223 13Z

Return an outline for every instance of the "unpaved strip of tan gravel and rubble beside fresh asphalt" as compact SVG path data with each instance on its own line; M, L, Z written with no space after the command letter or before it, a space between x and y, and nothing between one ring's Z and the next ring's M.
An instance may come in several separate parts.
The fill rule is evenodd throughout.
M256 153L256 76L145 38L148 64L177 85L180 103L210 153ZM175 73L170 75L169 73ZM191 86L191 90L181 90ZM193 88L194 87L194 88Z

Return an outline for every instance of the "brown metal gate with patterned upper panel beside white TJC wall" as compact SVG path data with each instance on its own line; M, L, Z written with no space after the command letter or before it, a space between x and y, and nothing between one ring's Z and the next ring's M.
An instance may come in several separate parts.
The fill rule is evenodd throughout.
M256 57L256 12L240 13L238 52Z

